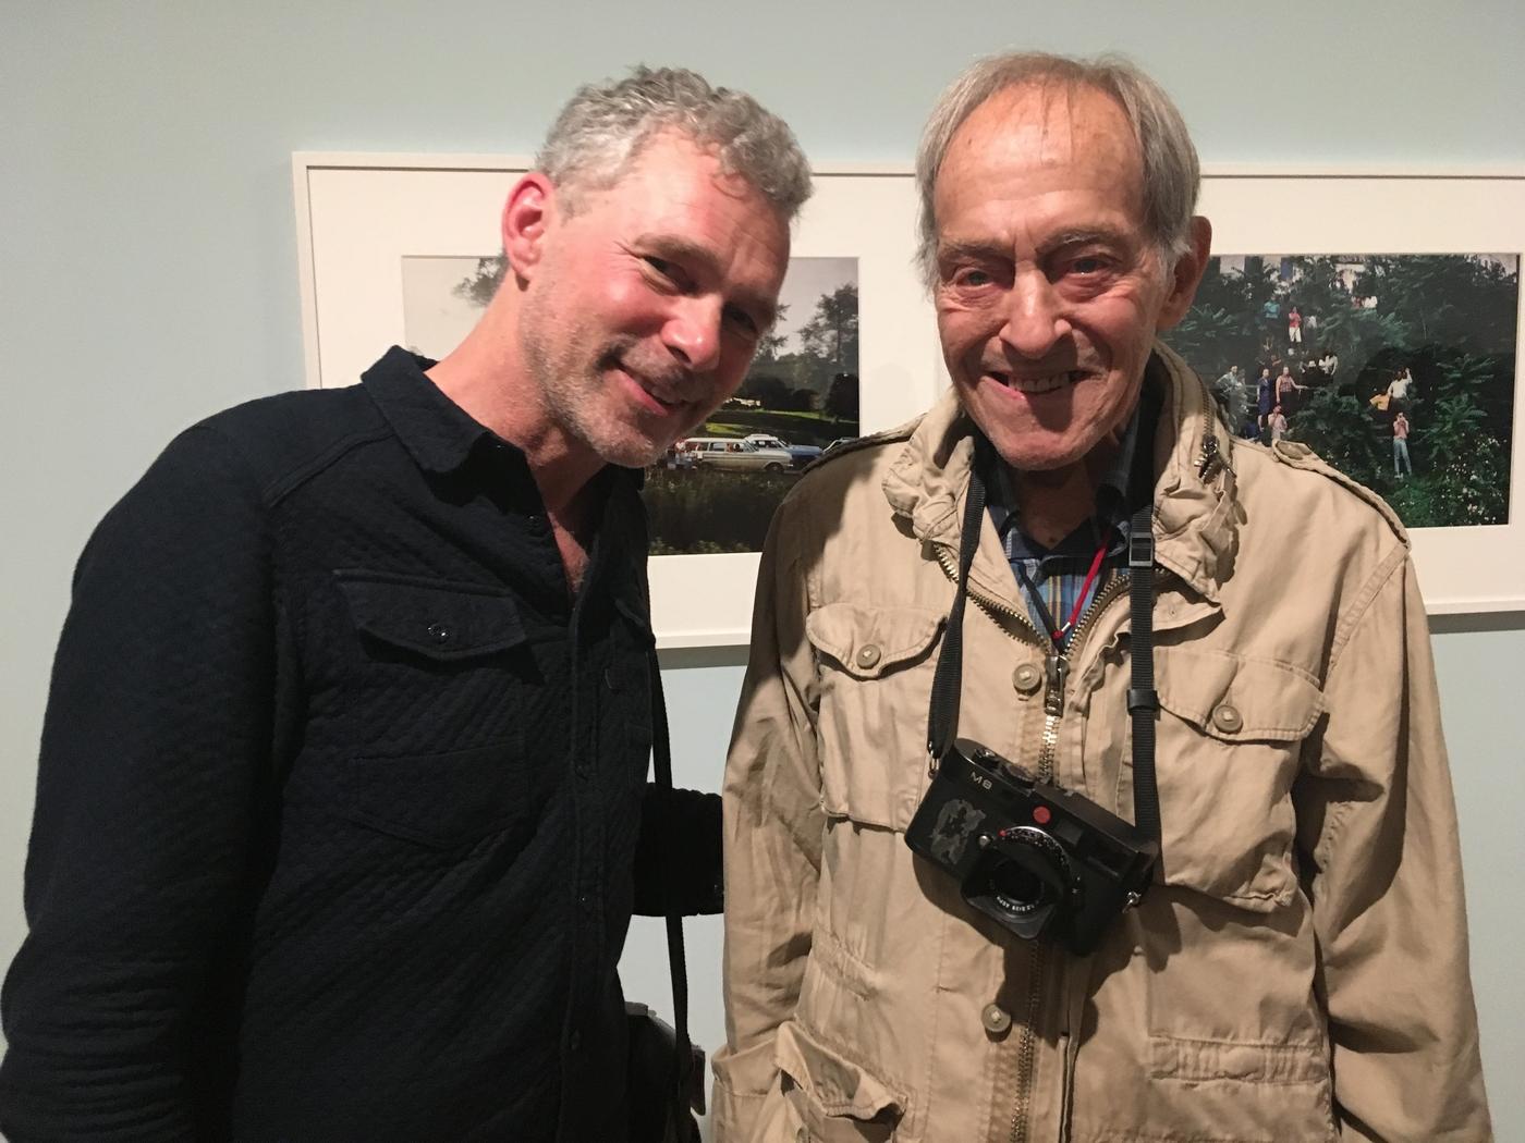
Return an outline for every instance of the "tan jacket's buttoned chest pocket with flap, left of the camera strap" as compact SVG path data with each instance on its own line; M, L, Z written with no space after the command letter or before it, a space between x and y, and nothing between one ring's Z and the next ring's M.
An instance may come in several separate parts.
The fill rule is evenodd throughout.
M926 773L927 701L944 616L827 604L805 636L820 672L820 786L830 817L904 831Z

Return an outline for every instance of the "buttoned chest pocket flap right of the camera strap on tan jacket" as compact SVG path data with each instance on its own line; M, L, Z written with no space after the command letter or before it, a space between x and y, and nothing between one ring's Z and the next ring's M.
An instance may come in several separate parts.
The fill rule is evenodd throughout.
M1223 742L1295 742L1324 713L1324 693L1302 671L1226 651L1159 648L1159 704Z

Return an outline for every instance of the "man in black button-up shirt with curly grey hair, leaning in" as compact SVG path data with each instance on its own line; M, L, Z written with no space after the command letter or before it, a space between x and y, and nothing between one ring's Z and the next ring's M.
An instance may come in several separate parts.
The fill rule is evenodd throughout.
M631 469L740 384L810 178L750 98L645 69L538 168L454 352L210 418L90 539L12 1143L624 1137L631 910L720 904L718 799L645 786Z

